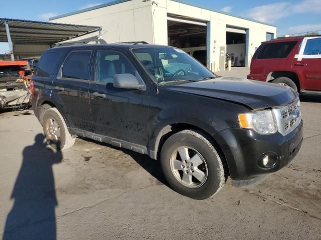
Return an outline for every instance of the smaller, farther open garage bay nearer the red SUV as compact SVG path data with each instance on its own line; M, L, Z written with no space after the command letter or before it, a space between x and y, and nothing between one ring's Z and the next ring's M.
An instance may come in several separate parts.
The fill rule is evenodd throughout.
M246 30L226 27L226 54L232 66L246 65Z

